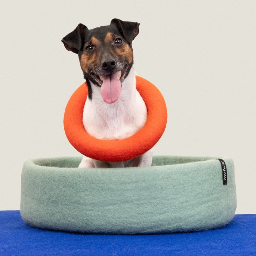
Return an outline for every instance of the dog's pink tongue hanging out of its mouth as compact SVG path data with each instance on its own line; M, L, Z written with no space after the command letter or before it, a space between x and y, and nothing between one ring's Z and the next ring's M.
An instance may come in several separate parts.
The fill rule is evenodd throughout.
M101 95L106 103L114 103L118 100L121 92L121 82L119 72L110 75L101 76L103 84L101 86Z

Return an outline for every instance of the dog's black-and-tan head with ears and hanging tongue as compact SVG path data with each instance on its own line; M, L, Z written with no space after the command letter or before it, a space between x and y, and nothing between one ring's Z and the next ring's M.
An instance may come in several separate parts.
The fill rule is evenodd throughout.
M132 41L139 33L139 23L113 19L108 26L89 30L79 24L62 42L77 53L92 98L90 81L101 87L103 100L118 99L122 81L133 65Z

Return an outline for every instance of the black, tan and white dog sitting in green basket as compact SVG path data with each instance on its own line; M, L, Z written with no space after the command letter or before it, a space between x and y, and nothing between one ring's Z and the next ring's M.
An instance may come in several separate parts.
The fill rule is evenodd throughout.
M111 20L110 25L89 30L79 24L62 42L78 54L88 86L83 124L91 136L120 140L140 130L148 117L145 103L136 89L132 41L139 33L139 23ZM152 149L135 159L105 162L83 156L79 167L151 166Z

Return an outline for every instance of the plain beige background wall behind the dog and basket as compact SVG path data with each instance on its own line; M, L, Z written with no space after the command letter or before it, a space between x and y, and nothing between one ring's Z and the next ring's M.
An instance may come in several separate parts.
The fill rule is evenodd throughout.
M78 23L140 22L138 75L165 97L169 119L155 155L230 156L238 208L256 213L256 1L3 1L0 8L0 210L20 207L22 164L76 156L63 130L82 84L60 41Z

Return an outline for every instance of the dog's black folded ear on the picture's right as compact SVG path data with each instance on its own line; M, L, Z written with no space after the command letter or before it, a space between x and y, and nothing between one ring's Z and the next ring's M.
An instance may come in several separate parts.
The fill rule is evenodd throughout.
M124 36L124 38L131 44L133 39L139 33L140 23L131 22L131 21L122 21L117 18L114 18L110 24L116 25L118 31Z

